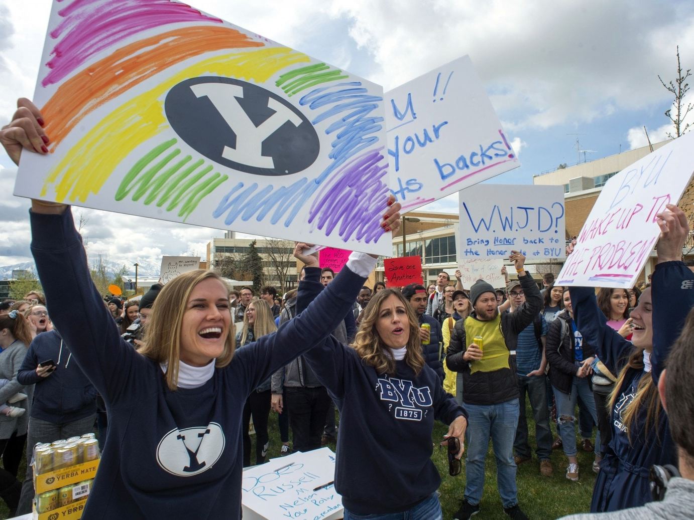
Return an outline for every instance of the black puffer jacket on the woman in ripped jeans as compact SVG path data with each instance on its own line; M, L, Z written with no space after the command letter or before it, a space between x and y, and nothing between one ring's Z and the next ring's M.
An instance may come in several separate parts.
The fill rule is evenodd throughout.
M566 309L557 314L557 318L550 324L545 338L545 356L550 365L550 383L565 394L571 393L573 376L576 375L578 366L573 359L575 340L571 331L571 318ZM586 343L583 338L583 358L595 356L595 350Z

